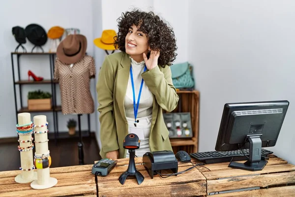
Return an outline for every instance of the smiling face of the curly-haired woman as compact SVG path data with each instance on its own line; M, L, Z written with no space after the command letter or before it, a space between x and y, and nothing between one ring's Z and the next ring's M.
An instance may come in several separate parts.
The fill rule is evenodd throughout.
M148 53L148 38L135 25L129 28L125 37L125 49L127 54L138 60L143 60L143 53Z

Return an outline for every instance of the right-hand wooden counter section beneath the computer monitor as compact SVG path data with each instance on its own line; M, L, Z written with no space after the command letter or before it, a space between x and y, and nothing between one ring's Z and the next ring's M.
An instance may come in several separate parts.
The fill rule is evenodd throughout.
M239 161L244 163L245 161ZM199 171L206 177L207 193L211 195L220 192L231 192L225 194L214 195L216 197L231 196L295 196L295 165L288 164L287 161L271 155L268 163L261 171L248 171L228 167L229 162L207 164L206 168L199 168ZM291 186L290 186L291 185ZM278 187L277 187L278 186ZM288 186L288 187L283 187ZM269 187L277 187L270 188ZM253 189L245 192L232 192L240 189ZM257 189L258 188L258 189ZM268 188L268 189L266 189ZM286 190L286 191L285 191ZM282 192L286 192L280 195Z

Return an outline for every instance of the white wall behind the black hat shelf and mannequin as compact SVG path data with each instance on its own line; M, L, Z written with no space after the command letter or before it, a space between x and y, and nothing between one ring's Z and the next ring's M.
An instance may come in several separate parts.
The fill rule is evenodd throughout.
M18 6L16 6L18 5ZM100 12L100 10L97 10ZM93 21L92 21L92 0L13 0L3 1L0 6L1 31L0 31L0 138L15 137L16 134L16 114L14 105L13 79L11 69L10 53L17 46L11 29L14 26L26 27L31 23L41 25L46 32L53 26L61 26L63 28L79 28L81 33L88 39L89 55L93 55ZM28 51L33 47L29 40L24 45ZM44 46L44 50L48 51L49 42ZM31 69L36 75L43 76L45 79L50 78L49 58L48 56L21 56L21 79L28 79L28 70ZM17 75L16 75L17 76ZM57 86L58 87L58 86ZM23 86L23 104L27 104L28 91L42 88L44 91L51 92L50 85L24 85ZM59 92L59 88L57 89ZM18 93L18 87L17 87ZM91 94L96 101L95 80L91 80ZM60 96L57 95L58 104L60 104ZM19 105L20 106L20 105ZM53 131L53 113L43 113L47 116L49 122L49 130ZM31 119L38 113L31 113ZM95 113L90 115L91 131L96 131ZM59 112L59 131L67 131L66 121L69 118L77 119L77 115L62 115ZM87 116L83 115L82 129L87 130ZM78 129L78 127L77 127Z

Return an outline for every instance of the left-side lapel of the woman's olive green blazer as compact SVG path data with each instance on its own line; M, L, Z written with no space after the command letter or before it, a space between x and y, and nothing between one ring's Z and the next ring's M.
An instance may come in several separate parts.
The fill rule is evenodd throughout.
M125 109L124 109L124 99L126 96L126 90L129 80L129 72L130 72L130 65L131 60L129 58L128 54L124 54L121 62L121 67L118 69L117 73L117 79L116 79L116 99L118 101L119 110L121 113L121 116L125 122L127 122L126 116L125 116Z

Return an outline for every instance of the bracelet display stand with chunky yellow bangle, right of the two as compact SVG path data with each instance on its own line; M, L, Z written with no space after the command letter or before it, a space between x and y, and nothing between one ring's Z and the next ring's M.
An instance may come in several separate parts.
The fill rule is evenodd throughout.
M47 189L55 186L58 183L56 178L50 177L51 157L48 150L48 135L47 135L46 116L34 116L34 134L36 152L34 156L34 164L37 168L37 180L31 182L31 188L35 190Z

